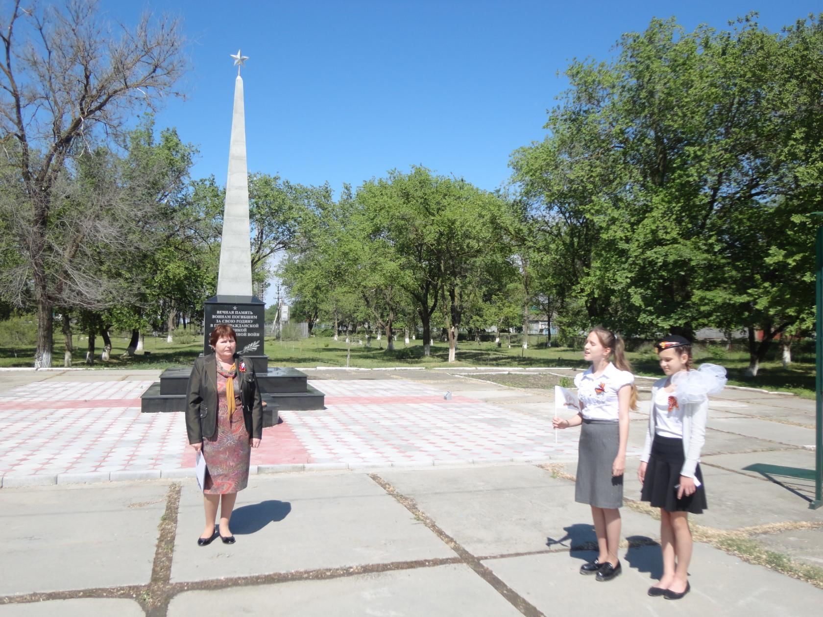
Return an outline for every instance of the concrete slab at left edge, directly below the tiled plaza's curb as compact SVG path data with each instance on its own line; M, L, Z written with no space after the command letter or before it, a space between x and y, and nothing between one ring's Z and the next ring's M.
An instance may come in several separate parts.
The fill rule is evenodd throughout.
M160 482L2 489L0 595L149 582L166 490Z

